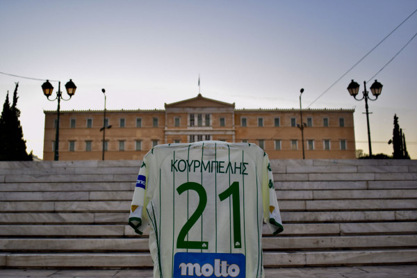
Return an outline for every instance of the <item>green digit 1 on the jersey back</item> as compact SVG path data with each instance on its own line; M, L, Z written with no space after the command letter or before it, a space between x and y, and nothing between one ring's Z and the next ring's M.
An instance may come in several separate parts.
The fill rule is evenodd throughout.
M231 196L233 206L233 237L234 247L242 247L240 237L240 197L239 197L239 183L235 181L226 190L219 194L220 201L227 199Z

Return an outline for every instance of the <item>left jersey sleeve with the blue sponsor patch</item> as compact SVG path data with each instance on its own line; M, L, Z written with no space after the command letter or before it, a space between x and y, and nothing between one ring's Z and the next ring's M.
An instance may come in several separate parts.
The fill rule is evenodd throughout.
M148 171L145 158L140 165L138 179L136 180L135 191L131 203L131 211L129 215L129 226L131 226L136 234L143 234L143 230L147 227L148 220L143 214L145 206L145 193L148 181ZM145 216L145 217L144 217Z

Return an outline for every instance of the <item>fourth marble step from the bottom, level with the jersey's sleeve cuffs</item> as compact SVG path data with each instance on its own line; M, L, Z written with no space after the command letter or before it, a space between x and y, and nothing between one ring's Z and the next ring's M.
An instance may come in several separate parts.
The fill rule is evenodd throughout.
M1 213L0 224L124 224L127 212ZM417 211L282 211L287 223L416 221Z

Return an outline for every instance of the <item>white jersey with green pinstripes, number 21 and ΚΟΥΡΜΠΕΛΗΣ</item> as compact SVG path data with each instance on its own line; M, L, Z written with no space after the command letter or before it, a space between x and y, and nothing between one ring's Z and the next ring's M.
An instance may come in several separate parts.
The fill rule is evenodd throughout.
M263 277L262 225L281 232L268 155L254 144L154 147L143 158L129 224L147 224L154 277Z

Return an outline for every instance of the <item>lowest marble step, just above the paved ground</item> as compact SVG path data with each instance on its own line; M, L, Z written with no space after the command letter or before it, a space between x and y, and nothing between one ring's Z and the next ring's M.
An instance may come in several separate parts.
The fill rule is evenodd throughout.
M372 265L415 263L416 249L263 252L265 267ZM6 268L143 268L152 267L149 253L1 253Z

